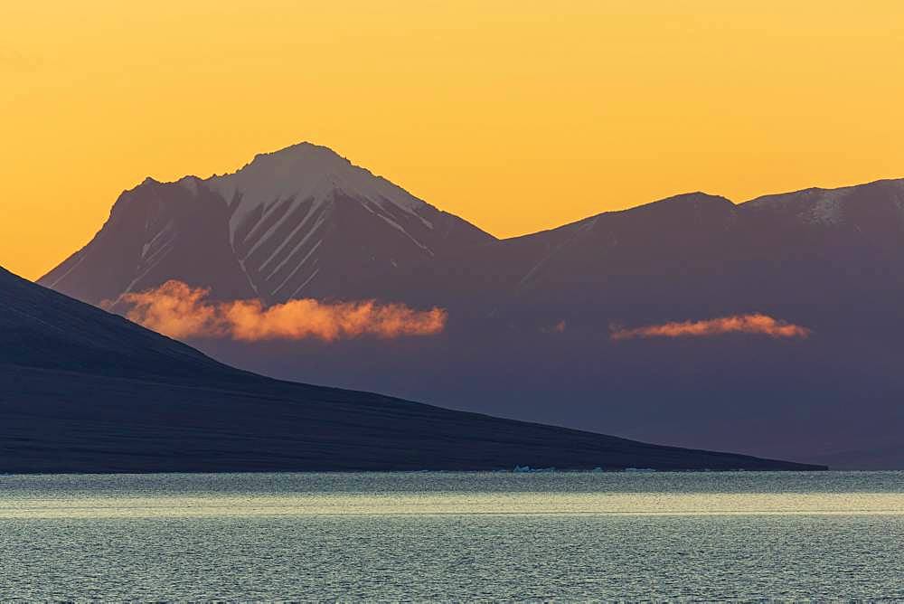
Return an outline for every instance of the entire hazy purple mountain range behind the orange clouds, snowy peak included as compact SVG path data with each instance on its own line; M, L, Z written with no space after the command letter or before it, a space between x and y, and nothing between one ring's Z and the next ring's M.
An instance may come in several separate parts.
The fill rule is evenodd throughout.
M212 297L447 309L417 340L197 340L283 378L835 467L904 467L904 180L746 203L687 193L495 240L325 147L123 193L40 283L99 304ZM119 308L118 308L119 309ZM759 313L809 337L613 340Z

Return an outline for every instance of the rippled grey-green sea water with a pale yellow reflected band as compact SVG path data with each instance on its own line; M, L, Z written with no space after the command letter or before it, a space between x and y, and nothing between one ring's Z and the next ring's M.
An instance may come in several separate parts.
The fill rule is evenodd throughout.
M0 599L904 599L904 473L0 476Z

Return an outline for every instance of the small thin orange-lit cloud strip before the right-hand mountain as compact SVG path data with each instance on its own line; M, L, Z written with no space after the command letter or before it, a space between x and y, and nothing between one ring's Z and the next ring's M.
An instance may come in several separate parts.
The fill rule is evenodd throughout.
M806 337L810 330L793 323L780 321L759 313L752 315L720 316L703 321L683 321L661 325L625 329L614 327L613 340L648 337L702 337L721 334L762 334L770 337Z

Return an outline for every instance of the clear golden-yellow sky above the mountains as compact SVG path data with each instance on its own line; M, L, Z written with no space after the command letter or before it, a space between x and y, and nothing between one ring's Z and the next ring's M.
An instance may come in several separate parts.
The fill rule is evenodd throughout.
M0 265L119 192L331 146L493 232L904 176L901 0L35 0L0 7Z

